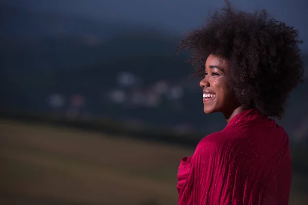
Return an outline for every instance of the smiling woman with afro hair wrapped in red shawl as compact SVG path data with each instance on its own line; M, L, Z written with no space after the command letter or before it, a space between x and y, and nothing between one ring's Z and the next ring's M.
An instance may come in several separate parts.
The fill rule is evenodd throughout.
M221 112L227 126L181 160L179 204L288 204L289 140L272 118L303 76L297 34L264 10L227 3L180 42L203 78L204 112Z

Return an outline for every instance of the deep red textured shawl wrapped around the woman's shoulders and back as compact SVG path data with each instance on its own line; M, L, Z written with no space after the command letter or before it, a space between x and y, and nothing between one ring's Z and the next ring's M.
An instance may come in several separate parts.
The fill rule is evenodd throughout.
M181 159L179 205L287 205L291 178L286 132L275 120L247 110Z

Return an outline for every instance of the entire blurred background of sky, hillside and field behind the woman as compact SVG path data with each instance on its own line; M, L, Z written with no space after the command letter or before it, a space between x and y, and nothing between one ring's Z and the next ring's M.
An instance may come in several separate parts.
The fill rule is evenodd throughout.
M307 1L231 2L298 29L308 63ZM177 204L180 158L226 122L203 113L176 45L222 6L0 1L0 204ZM290 135L295 205L308 204L307 93L303 83L278 121Z

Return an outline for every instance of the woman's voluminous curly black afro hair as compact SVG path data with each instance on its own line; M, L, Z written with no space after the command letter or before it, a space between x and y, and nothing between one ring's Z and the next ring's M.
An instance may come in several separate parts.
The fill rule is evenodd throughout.
M265 10L226 7L209 15L204 27L188 33L178 45L191 52L194 76L205 76L210 54L228 60L228 84L244 108L281 119L290 92L303 77L298 31L269 18Z

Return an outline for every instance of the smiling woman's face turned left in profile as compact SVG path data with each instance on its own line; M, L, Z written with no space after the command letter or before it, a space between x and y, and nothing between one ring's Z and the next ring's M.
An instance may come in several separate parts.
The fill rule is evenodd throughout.
M203 104L206 114L222 112L230 115L238 107L232 89L227 85L229 66L224 58L209 55L205 63L205 77L200 81L203 88Z

